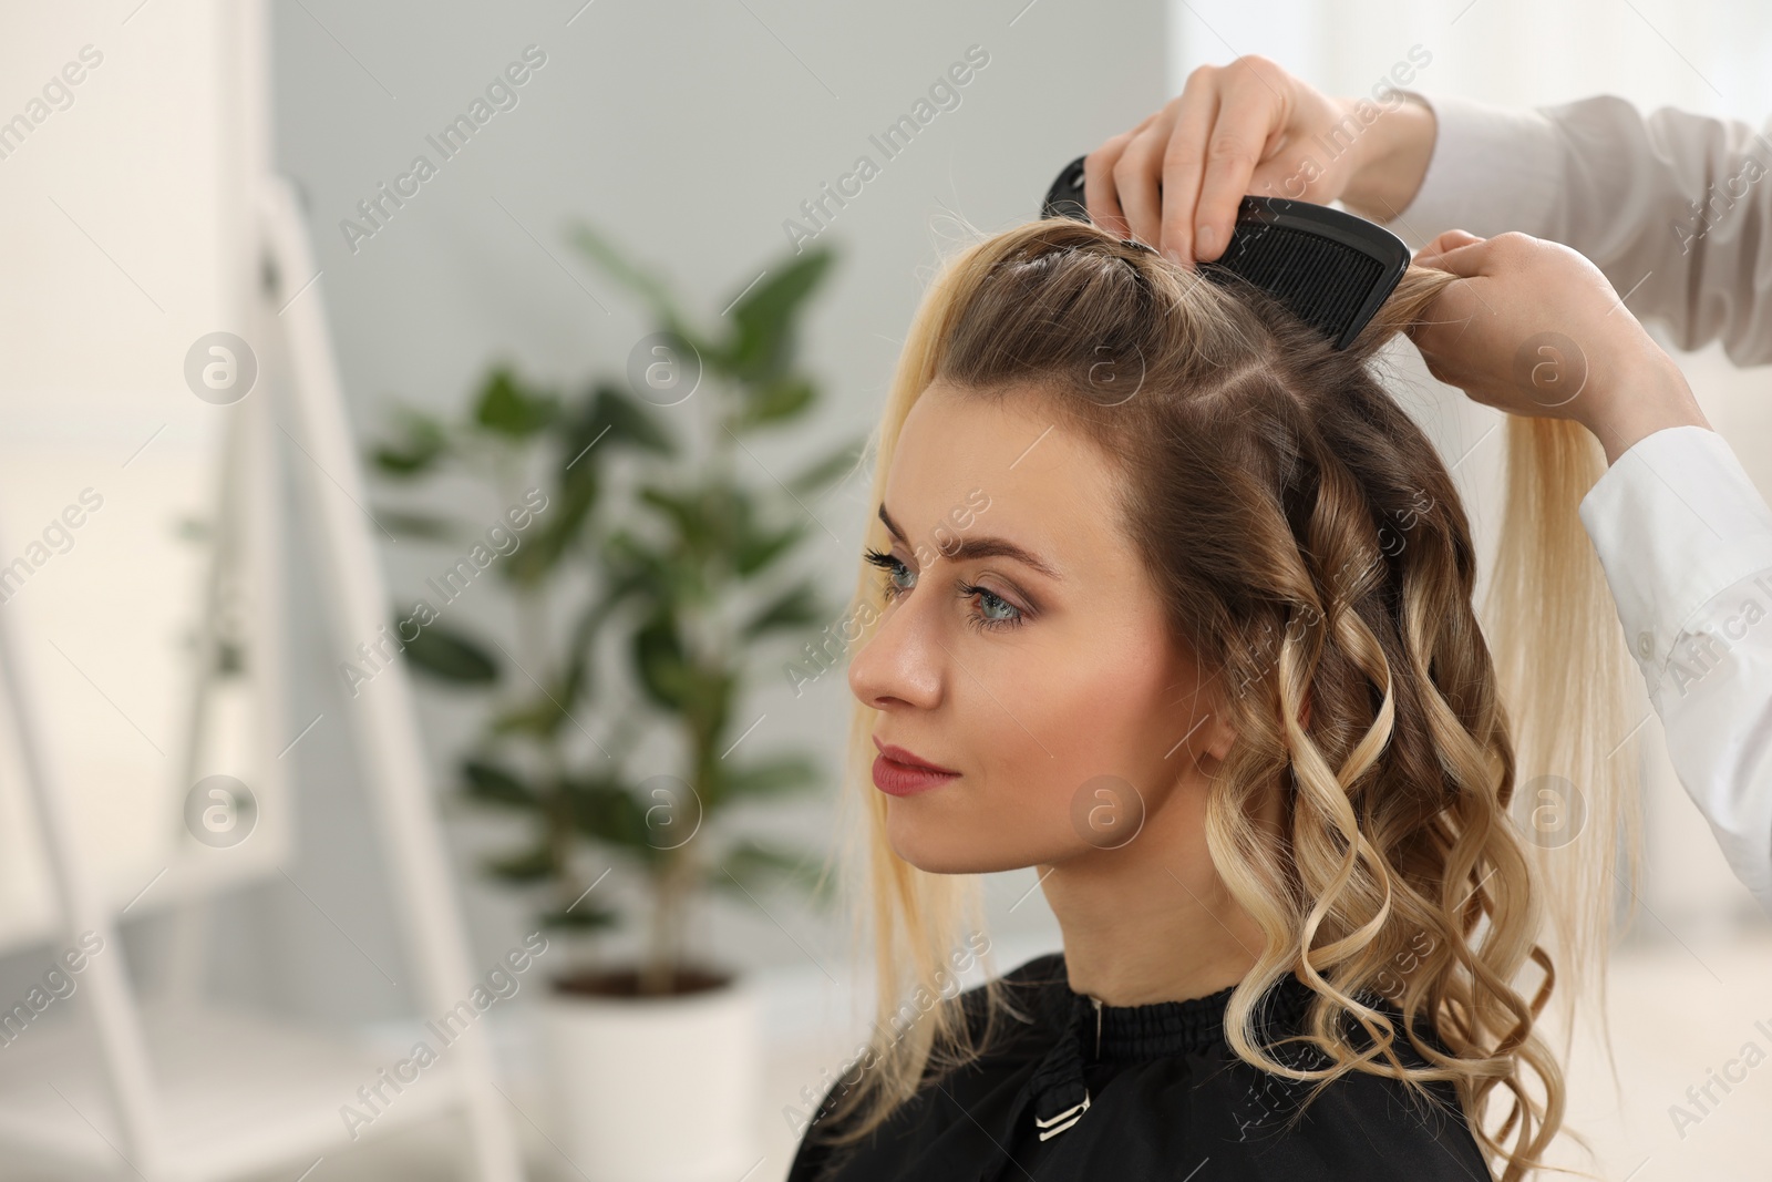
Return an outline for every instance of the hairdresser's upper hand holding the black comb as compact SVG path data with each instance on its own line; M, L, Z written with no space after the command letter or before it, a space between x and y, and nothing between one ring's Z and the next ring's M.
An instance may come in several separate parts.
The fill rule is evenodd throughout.
M1224 253L1244 193L1340 198L1386 222L1421 188L1435 126L1425 105L1375 90L1333 99L1253 53L1201 66L1180 97L1088 154L1090 220L1189 268Z

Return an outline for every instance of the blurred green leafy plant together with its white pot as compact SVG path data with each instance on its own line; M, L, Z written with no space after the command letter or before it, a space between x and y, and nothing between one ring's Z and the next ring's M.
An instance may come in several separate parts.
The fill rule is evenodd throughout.
M498 493L487 517L503 535L484 530L480 551L509 592L516 650L424 601L397 606L395 627L415 668L494 695L461 797L521 819L525 842L486 868L532 891L569 950L542 1007L556 1141L597 1182L730 1182L757 1157L757 998L691 955L686 920L709 890L755 904L789 879L831 897L813 854L728 824L735 805L822 782L804 751L758 751L737 707L829 615L792 556L815 528L806 498L856 466L861 441L781 480L746 441L817 402L796 330L831 257L790 255L703 331L592 229L576 243L656 317L626 388L563 399L496 365L464 420L404 408L372 455L390 478L454 468ZM377 519L438 544L482 533L429 512ZM626 654L631 686L604 652ZM643 764L647 741L672 757ZM638 959L604 964L599 934L634 920Z

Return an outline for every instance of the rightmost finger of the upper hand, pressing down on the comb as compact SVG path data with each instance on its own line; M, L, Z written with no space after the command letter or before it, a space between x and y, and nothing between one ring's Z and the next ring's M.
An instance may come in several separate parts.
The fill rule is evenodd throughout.
M1203 151L1205 168L1200 175L1198 204L1191 211L1193 250L1201 262L1224 253L1232 227L1237 223L1237 204L1249 191L1249 179L1262 161L1263 149L1286 124L1283 76L1278 76L1278 71L1272 80L1263 76L1265 64L1258 57L1242 57L1221 71L1217 119ZM1164 168L1166 200L1168 193L1168 168ZM1164 209L1166 230L1170 216Z

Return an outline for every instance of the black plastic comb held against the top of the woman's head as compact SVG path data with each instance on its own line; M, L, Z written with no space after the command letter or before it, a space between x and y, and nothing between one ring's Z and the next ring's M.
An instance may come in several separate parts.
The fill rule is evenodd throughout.
M1042 218L1088 222L1083 156L1058 174ZM1201 275L1255 284L1301 321L1345 349L1359 337L1409 269L1409 246L1380 225L1327 206L1285 197L1244 197L1230 246Z

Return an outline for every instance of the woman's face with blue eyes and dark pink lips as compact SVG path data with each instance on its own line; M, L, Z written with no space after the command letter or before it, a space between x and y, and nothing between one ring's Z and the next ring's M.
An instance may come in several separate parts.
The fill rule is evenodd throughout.
M877 746L959 773L886 801L893 849L936 874L1102 856L1230 743L1120 533L1109 464L1037 408L930 385L879 507L893 590L849 686Z

